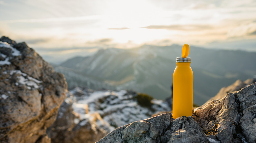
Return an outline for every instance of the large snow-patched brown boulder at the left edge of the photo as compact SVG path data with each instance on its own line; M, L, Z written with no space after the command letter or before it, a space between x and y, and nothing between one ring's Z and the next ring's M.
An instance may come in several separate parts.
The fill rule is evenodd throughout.
M0 39L0 142L51 142L46 129L66 98L64 75L25 42Z

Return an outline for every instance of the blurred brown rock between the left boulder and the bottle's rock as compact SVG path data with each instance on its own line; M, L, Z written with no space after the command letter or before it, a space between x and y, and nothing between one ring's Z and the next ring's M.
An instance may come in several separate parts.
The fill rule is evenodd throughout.
M79 98L82 99L78 92ZM77 92L75 92L77 94ZM52 143L95 143L100 138L114 130L100 115L88 113L79 115L73 109L76 98L71 92L68 92L68 98L61 104L56 121L48 128L48 134L52 138ZM82 116L82 117L81 117Z

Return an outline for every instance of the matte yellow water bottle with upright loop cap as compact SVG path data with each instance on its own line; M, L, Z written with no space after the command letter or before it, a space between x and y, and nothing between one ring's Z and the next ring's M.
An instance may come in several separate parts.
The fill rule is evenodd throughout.
M193 71L189 45L183 45L181 57L176 58L177 67L173 72L173 118L192 116L193 110Z

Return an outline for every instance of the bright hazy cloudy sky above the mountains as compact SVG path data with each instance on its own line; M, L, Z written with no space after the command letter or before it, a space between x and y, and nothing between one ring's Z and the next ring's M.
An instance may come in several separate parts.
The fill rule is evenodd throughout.
M0 0L0 36L51 62L101 48L256 51L256 0Z

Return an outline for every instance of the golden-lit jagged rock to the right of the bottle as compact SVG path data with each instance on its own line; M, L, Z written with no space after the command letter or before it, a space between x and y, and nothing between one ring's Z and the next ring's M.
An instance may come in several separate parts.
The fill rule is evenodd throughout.
M207 135L220 142L256 142L256 83L208 102L194 111L193 118Z

